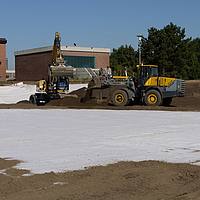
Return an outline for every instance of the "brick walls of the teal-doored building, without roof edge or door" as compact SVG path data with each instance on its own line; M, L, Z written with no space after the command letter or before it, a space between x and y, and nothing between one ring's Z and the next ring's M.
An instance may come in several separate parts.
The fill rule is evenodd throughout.
M63 55L94 56L96 68L109 66L109 53L62 51ZM15 75L17 81L37 81L48 78L48 65L52 51L15 55Z

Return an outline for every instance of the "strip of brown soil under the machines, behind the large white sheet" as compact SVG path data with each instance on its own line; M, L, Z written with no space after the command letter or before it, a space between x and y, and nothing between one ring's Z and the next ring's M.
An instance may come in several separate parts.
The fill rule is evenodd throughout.
M9 83L0 83L0 85ZM10 83L11 84L11 83ZM13 84L13 82L12 82ZM35 82L25 82L25 84L35 84ZM163 111L200 111L200 81L186 81L185 97L173 98L170 106L145 106L144 103L131 103L129 106L114 106L109 102L98 103L96 99L87 99L85 103L81 99L86 95L86 88L73 91L68 97L52 100L46 105L31 105L28 101L21 101L17 104L0 104L0 109L108 109L108 110L163 110Z

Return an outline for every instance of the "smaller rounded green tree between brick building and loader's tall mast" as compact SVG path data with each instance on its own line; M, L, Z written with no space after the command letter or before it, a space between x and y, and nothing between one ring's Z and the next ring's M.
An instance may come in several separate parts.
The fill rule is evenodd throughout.
M137 59L137 52L133 49L131 45L121 46L118 49L113 49L110 55L110 66L116 75L123 74L124 68L127 68L129 74L135 71Z

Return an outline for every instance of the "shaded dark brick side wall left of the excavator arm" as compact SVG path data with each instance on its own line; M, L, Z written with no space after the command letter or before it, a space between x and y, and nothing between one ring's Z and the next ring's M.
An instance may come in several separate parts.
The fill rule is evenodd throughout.
M15 56L15 76L17 81L38 81L48 78L48 66L52 51Z

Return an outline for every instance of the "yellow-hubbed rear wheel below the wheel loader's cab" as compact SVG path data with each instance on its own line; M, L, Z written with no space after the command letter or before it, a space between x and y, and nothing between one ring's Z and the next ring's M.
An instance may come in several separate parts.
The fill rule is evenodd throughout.
M160 106L162 104L161 95L157 90L149 90L144 97L147 106Z

